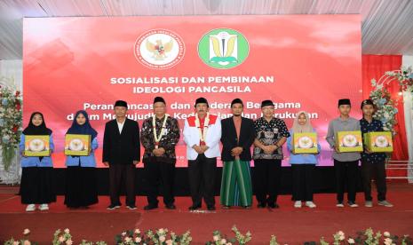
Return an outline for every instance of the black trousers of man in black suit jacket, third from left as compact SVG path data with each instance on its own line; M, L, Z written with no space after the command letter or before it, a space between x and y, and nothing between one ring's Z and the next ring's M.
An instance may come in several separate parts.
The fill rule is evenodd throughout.
M133 164L109 165L109 194L112 205L122 205L119 195L123 179L126 186L126 205L135 205L135 171Z

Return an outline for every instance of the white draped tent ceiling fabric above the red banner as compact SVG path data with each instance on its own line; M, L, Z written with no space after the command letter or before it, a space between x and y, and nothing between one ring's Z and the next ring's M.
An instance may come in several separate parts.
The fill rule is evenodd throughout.
M21 59L24 17L226 14L360 13L364 54L412 55L412 12L410 0L1 0L0 59Z

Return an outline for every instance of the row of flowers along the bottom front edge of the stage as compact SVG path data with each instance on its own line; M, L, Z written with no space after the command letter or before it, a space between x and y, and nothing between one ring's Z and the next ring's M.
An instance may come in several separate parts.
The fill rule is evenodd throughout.
M252 236L250 232L242 234L238 231L234 225L232 231L235 234L235 237L228 238L225 234L215 231L213 233L213 241L207 241L207 245L232 245L232 244L247 244L251 241ZM35 245L37 244L34 241L28 240L28 235L30 231L25 229L23 231L24 237L20 240L14 240L11 238L8 241L4 241L4 245ZM364 232L358 232L355 236L345 237L345 233L339 231L338 233L333 234L333 245L413 245L413 240L409 235L397 236L389 232L375 233L373 229L366 229ZM176 233L169 233L168 229L158 229L155 231L148 230L146 233L140 232L139 229L125 231L121 234L115 236L115 244L117 245L189 245L192 242L192 237L190 236L189 231L183 233L182 235L177 235ZM71 245L74 244L72 240L72 235L70 234L69 229L65 229L63 232L57 230L53 236L53 245ZM83 240L80 245L107 245L105 241L85 241ZM275 235L271 236L269 241L270 245L279 245ZM330 243L321 238L320 243L315 241L306 241L305 245L329 245Z

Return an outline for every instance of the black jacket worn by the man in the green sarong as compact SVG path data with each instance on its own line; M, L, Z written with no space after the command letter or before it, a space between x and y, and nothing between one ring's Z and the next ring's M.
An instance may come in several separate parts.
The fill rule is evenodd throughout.
M232 116L221 121L221 129L222 129L221 142L223 146L222 154L221 154L222 161L225 161L225 162L234 161L235 158L234 156L231 155L231 150L237 146L242 147L242 154L240 154L240 160L250 161L251 160L250 146L252 145L255 139L255 130L254 130L253 121L250 120L249 118L242 117L239 141L237 140L237 137L236 137L234 119Z

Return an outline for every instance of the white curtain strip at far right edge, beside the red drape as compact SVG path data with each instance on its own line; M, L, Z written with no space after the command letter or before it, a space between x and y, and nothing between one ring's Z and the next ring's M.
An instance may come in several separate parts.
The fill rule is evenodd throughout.
M401 64L413 67L413 56L404 55ZM403 92L404 121L408 138L409 161L413 161L413 92ZM413 164L413 162L410 162ZM408 170L409 183L413 183L413 169Z

